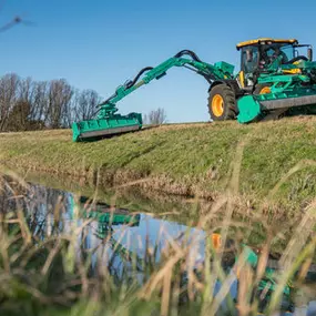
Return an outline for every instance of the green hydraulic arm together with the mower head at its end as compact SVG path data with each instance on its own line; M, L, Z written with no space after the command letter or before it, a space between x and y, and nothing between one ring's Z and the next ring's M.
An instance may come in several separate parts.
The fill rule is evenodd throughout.
M234 65L223 61L213 65L200 60L194 52L183 50L155 68L142 69L133 80L119 85L113 95L99 104L98 111L93 115L96 119L73 123L73 141L95 140L100 136L140 130L142 128L142 115L140 113L118 114L116 103L152 80L161 79L174 67L184 67L195 71L204 77L210 84L214 81L234 79Z

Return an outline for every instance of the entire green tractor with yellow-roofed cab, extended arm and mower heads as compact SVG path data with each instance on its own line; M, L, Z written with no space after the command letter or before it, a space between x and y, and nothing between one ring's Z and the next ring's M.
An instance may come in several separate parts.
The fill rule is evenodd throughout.
M241 70L227 62L202 61L183 50L155 68L142 69L132 81L99 104L95 119L72 125L73 141L90 141L142 129L142 114L118 114L116 103L144 84L164 77L169 69L183 67L210 83L208 113L212 121L239 123L278 119L284 115L316 114L316 62L309 44L296 39L256 39L237 44ZM300 54L307 49L307 54ZM96 114L95 113L95 114Z

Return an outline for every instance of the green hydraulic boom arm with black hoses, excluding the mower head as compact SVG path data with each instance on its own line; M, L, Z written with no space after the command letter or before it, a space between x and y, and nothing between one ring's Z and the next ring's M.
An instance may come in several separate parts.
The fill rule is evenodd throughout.
M191 59L183 58L182 55L190 55ZM142 69L133 81L128 81L125 84L120 85L112 96L99 104L100 113L98 118L103 119L114 114L118 111L115 104L120 100L140 86L150 83L152 80L161 79L166 74L166 71L173 67L185 67L192 71L195 71L196 73L203 75L210 83L216 80L233 79L234 71L234 67L226 62L218 62L212 65L201 61L192 51L181 51L173 58L167 59L155 68L147 67ZM145 75L139 80L143 73L145 73Z

